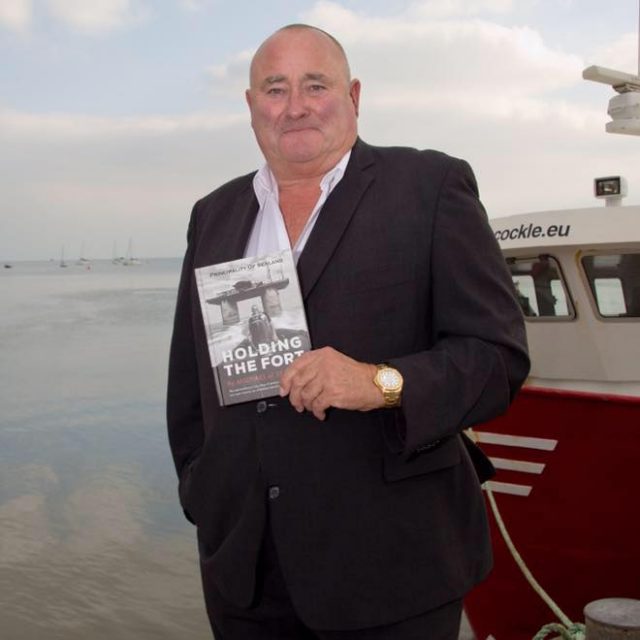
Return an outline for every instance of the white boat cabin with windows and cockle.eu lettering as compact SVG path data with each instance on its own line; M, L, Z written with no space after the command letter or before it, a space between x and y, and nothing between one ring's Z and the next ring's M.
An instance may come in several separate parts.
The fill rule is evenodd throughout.
M527 321L528 385L640 396L640 206L490 222Z

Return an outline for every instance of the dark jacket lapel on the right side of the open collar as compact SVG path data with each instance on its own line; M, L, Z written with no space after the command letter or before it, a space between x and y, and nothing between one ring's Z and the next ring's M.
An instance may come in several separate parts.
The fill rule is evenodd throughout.
M298 261L302 297L307 298L338 246L362 196L373 182L371 148L358 140L344 177L324 203Z

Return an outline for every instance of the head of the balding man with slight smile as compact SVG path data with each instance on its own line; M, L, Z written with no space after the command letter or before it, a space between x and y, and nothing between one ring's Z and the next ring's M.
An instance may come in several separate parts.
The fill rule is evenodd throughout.
M251 67L247 103L260 149L278 177L331 169L357 135L360 84L326 35L287 29Z

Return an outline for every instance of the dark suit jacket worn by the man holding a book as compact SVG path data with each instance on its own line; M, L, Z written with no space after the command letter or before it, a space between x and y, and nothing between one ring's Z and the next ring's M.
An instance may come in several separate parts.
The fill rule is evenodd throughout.
M298 264L311 340L389 362L405 387L401 409L331 409L324 422L286 398L218 405L193 269L243 256L252 177L193 209L171 348L169 437L205 577L251 602L268 504L312 628L386 624L459 598L491 551L458 434L504 412L529 366L471 169L434 151L353 148Z

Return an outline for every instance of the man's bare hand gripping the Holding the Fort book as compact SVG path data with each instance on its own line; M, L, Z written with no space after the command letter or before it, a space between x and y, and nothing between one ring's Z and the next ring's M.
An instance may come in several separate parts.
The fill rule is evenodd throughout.
M373 383L376 366L358 362L324 347L303 353L280 378L280 395L302 412L324 420L329 407L370 411L384 406L382 391Z

